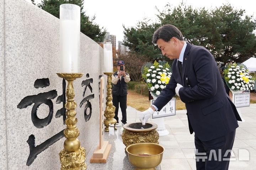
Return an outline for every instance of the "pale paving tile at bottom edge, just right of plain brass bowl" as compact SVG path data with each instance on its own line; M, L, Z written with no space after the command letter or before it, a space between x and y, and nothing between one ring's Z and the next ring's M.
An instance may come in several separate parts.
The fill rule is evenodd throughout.
M162 159L161 170L192 170L187 159Z

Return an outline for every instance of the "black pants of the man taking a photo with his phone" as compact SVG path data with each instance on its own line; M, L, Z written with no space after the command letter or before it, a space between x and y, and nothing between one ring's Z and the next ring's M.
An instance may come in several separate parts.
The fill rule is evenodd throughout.
M115 95L112 95L113 97L113 105L114 107L116 107L116 111L115 111L115 116L114 118L117 120L117 123L119 123L118 121L118 109L119 109L119 103L120 103L120 108L121 108L121 111L122 111L122 122L126 122L126 108L127 108L127 95L125 96L115 96Z

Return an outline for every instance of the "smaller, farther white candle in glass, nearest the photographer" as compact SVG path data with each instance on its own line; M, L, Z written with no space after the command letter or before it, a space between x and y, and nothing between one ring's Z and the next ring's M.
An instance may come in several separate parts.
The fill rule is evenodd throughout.
M104 73L113 73L113 53L112 44L103 44L103 54L104 54Z

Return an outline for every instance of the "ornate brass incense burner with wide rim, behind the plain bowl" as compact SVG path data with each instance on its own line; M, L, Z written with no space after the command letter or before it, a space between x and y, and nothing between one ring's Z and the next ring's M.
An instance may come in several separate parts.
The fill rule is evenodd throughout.
M141 122L127 123L123 128L122 139L126 147L134 143L159 144L159 134L156 131L157 124L153 122L147 122L144 126Z

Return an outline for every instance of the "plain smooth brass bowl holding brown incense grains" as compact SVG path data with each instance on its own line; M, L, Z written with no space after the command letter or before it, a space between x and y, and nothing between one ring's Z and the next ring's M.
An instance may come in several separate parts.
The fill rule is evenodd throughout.
M162 161L164 150L164 147L156 143L135 143L126 148L128 159L136 167L135 170L156 170L155 167Z

